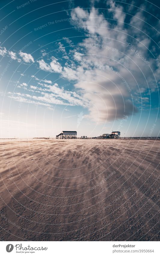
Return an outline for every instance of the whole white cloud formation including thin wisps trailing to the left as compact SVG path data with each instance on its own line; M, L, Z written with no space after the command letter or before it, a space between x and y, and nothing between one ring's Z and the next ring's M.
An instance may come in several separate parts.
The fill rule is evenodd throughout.
M30 97L34 103L83 106L89 110L88 118L105 122L132 115L137 112L136 104L149 103L146 94L157 90L155 78L159 76L159 68L150 51L153 28L147 31L148 27L144 26L143 6L141 9L133 8L133 15L127 18L125 5L107 1L104 11L95 8L94 2L90 9L76 6L69 13L74 29L85 35L79 39L80 42L73 46L72 41L64 37L62 42L56 43L55 56L46 56L46 51L41 50L43 56L36 62L40 70L73 81L73 91L62 90L51 80L41 80L32 75L38 83L28 90L40 96L24 94L23 97ZM65 43L71 47L65 48ZM2 56L6 52L5 47L0 48ZM10 55L15 58L14 52ZM149 65L139 56L146 58ZM26 63L34 62L30 54L20 53L20 57Z

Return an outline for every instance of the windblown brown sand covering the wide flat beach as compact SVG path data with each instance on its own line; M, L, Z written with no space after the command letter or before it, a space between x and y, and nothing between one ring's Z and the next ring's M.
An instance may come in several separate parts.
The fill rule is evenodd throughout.
M2 240L159 240L159 140L0 144Z

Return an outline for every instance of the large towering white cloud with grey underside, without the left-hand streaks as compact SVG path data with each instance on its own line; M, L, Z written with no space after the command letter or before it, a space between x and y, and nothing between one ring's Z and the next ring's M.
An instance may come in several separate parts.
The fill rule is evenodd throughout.
M94 6L89 10L74 8L71 11L72 24L75 29L83 30L85 39L76 49L70 50L71 65L67 61L64 66L55 57L52 57L53 66L52 61L45 63L49 67L47 71L75 82L74 87L82 92L83 100L90 103L87 106L88 118L98 122L136 113L136 104L146 102L147 97L141 93L156 90L152 70L156 77L158 75L149 55L151 40L145 36L143 11L136 10L126 26L124 7L114 1L107 1L107 7L112 20L106 19L104 12ZM127 47L128 42L132 42L134 51ZM149 60L152 70L135 54L136 50ZM139 95L140 100L135 100L134 95Z

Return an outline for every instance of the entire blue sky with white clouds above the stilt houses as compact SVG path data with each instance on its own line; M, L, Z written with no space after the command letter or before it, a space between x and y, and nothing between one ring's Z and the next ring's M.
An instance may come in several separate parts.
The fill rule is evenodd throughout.
M158 1L1 1L0 137L159 135Z

